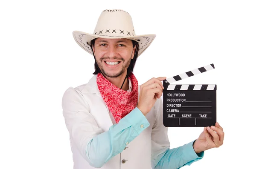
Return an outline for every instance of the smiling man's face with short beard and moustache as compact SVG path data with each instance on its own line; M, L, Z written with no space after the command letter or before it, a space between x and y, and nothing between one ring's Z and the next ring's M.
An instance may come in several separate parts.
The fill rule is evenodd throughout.
M108 77L119 77L126 72L131 59L134 58L135 47L128 39L97 38L93 52L99 69Z

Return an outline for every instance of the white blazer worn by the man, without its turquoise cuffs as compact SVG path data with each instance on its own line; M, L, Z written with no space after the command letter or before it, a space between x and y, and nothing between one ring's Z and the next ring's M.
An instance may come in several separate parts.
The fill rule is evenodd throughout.
M87 84L68 88L62 100L63 115L70 133L74 169L95 169L86 160L86 144L94 136L108 131L113 125L109 110L97 87L96 76L94 75ZM161 98L157 99L145 117L150 126L101 169L151 169L151 159L159 158L157 155L170 147L168 128L163 126Z

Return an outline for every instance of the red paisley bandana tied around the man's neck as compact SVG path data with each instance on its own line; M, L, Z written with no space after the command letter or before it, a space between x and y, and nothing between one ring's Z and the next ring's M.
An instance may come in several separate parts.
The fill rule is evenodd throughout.
M97 85L99 92L108 109L111 111L116 123L122 117L131 112L138 101L138 81L133 73L130 73L132 92L124 91L113 85L101 73L97 74Z

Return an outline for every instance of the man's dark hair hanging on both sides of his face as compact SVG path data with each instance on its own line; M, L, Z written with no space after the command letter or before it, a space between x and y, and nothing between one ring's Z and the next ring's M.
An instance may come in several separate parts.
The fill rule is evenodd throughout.
M93 47L92 46L94 46L95 40L96 39L93 39L91 41L91 43L90 43L90 47L92 49L92 52L93 52ZM135 40L131 40L131 41L132 41L132 44L133 44L133 48L134 48L134 46L136 46L136 48L135 48L134 58L131 59L131 63L130 63L130 65L127 68L127 75L129 75L130 72L133 72L136 60L138 58L138 52L139 52L139 43L136 42ZM94 57L94 60L95 60L94 61L94 69L95 69L95 71L93 72L93 74L101 73L101 70L99 69L99 66L98 66L98 64L96 62L96 58L95 58L94 52L93 52L93 57Z

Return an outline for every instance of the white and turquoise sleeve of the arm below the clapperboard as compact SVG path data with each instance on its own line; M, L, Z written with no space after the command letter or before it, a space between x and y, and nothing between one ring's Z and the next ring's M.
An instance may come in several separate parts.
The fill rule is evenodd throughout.
M163 101L158 99L154 105L155 123L151 133L151 166L152 169L179 169L182 166L200 160L204 152L196 154L193 142L170 149L168 127L163 125Z

